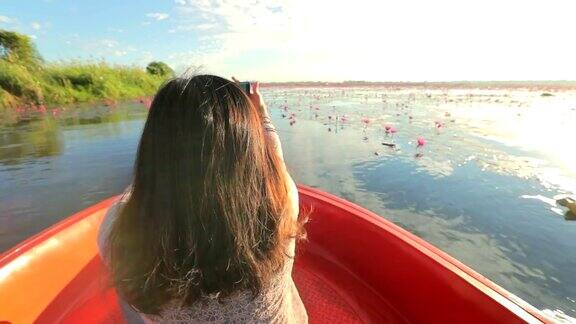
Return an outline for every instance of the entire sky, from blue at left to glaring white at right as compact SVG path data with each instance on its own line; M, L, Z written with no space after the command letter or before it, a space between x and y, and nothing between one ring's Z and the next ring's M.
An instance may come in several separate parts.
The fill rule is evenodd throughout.
M0 0L48 61L263 81L576 80L574 0Z

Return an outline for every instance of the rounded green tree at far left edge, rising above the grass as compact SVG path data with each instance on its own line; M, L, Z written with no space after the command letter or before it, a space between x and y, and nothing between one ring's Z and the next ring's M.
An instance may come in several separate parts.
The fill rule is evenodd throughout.
M7 30L0 30L0 59L27 68L39 67L42 63L30 37Z

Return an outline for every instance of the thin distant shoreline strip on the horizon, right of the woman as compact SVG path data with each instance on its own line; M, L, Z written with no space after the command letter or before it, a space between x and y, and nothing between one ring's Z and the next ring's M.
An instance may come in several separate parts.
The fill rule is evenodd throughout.
M565 90L576 90L576 81L442 81L442 82L302 81L302 82L263 82L262 87L271 87L271 88L380 87L380 88L422 88L422 89L526 89L533 91L565 91Z

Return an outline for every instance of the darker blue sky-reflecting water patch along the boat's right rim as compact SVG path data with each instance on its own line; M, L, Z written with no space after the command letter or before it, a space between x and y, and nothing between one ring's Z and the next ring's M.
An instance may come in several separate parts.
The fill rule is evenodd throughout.
M536 306L574 307L547 296L576 293L576 259L566 260L576 247L574 231L548 219L554 215L545 206L518 199L526 191L548 193L544 188L474 162L441 179L419 172L401 182L391 179L410 168L404 162L367 163L374 165L354 166L356 178L365 191L381 194L380 213Z

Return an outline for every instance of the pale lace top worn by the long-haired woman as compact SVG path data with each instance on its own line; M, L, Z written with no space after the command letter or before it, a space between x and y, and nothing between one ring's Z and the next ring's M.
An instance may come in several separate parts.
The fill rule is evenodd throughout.
M122 200L106 214L98 234L100 255ZM294 255L295 242L289 245L289 255ZM249 291L240 291L223 301L205 296L192 307L181 307L172 301L161 307L159 316L138 314L123 303L128 322L144 323L307 323L306 310L292 280L294 259L287 258L283 271L273 278L270 285L255 299Z

